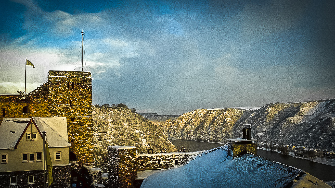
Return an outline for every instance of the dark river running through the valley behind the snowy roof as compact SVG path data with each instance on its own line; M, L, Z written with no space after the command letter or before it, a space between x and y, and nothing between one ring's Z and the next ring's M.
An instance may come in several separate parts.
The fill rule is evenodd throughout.
M184 147L188 152L196 152L202 150L209 150L223 146L223 144L215 144L208 142L198 142L194 140L170 140L177 148ZM291 156L284 156L277 152L270 152L265 150L257 150L257 155L283 163L287 166L292 166L297 169L304 170L315 176L320 180L335 181L335 166L325 165L321 163L312 162L305 159L299 159Z

